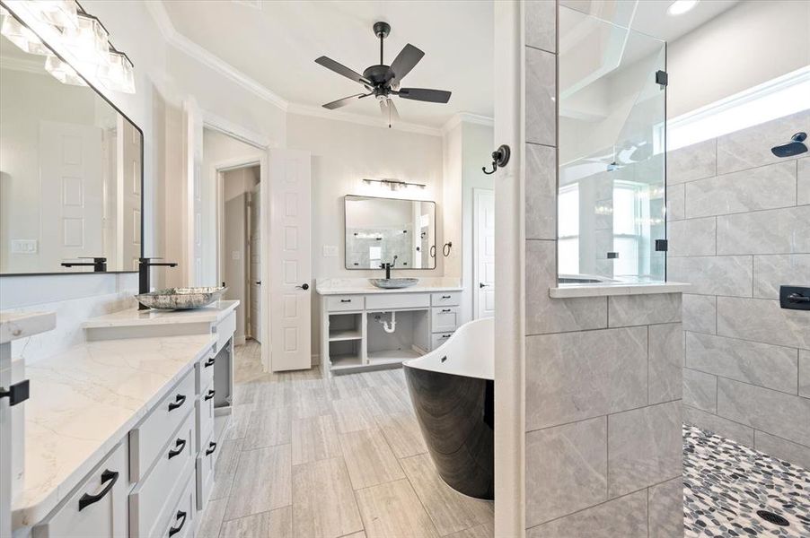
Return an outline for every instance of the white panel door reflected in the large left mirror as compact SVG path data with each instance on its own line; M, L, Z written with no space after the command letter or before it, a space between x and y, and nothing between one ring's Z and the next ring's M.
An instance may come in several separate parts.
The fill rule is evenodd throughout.
M100 127L40 122L42 266L103 256L102 153Z

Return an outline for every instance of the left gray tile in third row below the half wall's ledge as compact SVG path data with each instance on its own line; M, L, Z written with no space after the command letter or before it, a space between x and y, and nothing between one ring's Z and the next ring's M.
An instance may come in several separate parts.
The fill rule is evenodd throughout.
M607 418L526 434L526 525L607 500Z

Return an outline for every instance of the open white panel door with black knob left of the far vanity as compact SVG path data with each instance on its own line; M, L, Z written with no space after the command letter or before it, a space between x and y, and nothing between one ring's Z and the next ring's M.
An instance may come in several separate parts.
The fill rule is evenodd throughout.
M270 368L312 366L312 158L270 150Z

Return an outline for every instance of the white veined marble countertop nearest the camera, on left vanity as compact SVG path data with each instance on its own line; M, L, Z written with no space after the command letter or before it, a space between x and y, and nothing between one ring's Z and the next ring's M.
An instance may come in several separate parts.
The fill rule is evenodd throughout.
M14 528L56 508L215 342L213 334L91 342L26 366L31 399Z

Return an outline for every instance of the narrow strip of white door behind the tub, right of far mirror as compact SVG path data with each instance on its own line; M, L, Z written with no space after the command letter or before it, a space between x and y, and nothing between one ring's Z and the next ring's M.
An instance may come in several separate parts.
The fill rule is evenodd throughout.
M473 191L473 312L475 318L495 315L495 194Z

